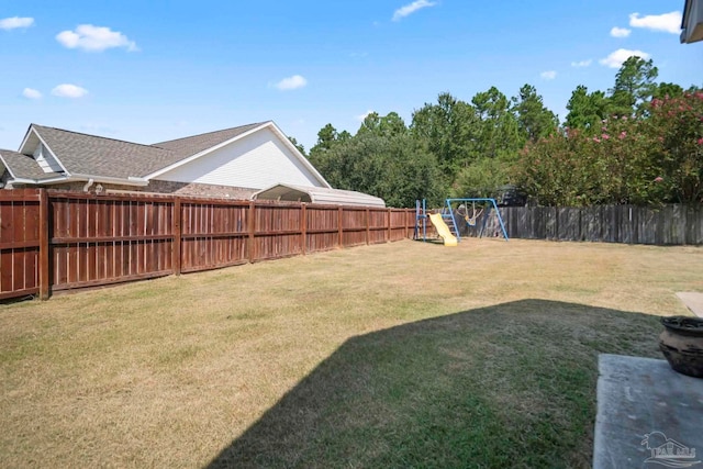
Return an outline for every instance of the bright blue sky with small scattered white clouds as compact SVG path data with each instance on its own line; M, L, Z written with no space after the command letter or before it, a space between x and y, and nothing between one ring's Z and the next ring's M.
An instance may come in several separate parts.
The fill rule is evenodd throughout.
M13 1L0 5L0 147L30 123L155 143L274 120L310 148L326 123L532 83L566 116L632 52L703 86L683 0ZM677 16L677 14L679 16Z

